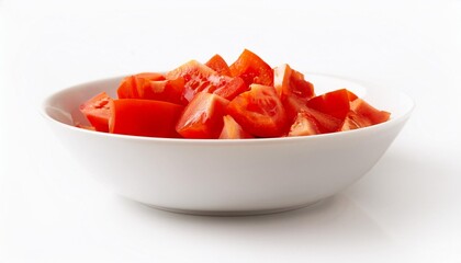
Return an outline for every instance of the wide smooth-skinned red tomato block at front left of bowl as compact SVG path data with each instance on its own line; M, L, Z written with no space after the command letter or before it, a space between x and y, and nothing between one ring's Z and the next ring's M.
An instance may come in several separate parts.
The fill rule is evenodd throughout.
M109 130L113 134L178 138L175 125L182 105L151 100L120 99L111 103Z

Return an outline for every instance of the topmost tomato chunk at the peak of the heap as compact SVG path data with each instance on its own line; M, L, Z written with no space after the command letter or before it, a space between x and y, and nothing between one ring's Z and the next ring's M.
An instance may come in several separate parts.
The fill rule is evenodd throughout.
M245 49L229 66L232 76L240 77L247 85L252 83L272 85L272 68L252 52Z

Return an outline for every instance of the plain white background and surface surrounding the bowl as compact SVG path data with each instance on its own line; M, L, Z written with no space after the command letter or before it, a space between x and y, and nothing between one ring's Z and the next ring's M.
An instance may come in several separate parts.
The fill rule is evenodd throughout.
M416 110L345 192L237 218L117 197L38 114L68 85L244 48L400 89ZM461 262L460 119L459 0L0 0L0 262Z

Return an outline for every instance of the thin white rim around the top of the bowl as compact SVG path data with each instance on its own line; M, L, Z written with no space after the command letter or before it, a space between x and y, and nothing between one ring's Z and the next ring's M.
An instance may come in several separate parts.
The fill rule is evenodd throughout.
M363 81L363 80L358 80L358 79L353 79L353 78L349 78L349 77L344 77L344 76L338 76L338 75L331 75L331 73L323 73L323 72L310 72L306 73L308 76L319 76L319 77L327 77L327 78L335 78L335 79L341 79L341 80L346 80L349 82L353 82L360 85L363 85L367 88L367 90L369 90L369 88L373 88L373 89L380 89L380 87L375 83L369 82L369 81ZM115 80L121 80L123 78L125 78L126 76L130 75L124 75L124 76L114 76L114 77L108 77L108 78L103 78L103 79L94 79L94 80L90 80L90 81L86 81L86 82L80 82L74 85L70 85L68 88L64 88L60 89L58 91L55 91L50 94L48 94L47 96L45 96L42 100L42 103L40 105L40 114L47 119L48 122L58 125L60 127L64 128L68 128L72 132L77 132L77 133L87 133L88 135L91 136L101 136L101 137L105 137L105 138L120 138L120 139L128 139L128 140L139 140L139 141L155 141L155 142L167 142L167 144L206 144L206 145L258 145L258 144L268 144L268 142L297 142L297 141L310 141L310 140L318 140L318 139L326 139L326 138L335 138L335 137L344 137L344 136L360 136L361 133L366 133L366 132L378 132L380 129L385 129L390 126L394 126L397 125L402 122L405 122L409 118L409 116L412 115L413 111L415 110L415 101L405 92L396 90L396 89L390 89L390 88L385 88L387 91L393 92L395 94L398 94L401 98L403 98L403 100L405 100L407 102L406 105L406 110L397 115L396 117L392 117L392 112L391 112L391 118L387 122L381 123L381 124L376 124L376 125L372 125L369 127L363 127L363 128L359 128L359 129L352 129L352 130L345 130L345 132L338 132L338 133L328 133L328 134L319 134L319 135L312 135L312 136L295 136L295 137L272 137L272 138L247 138L247 139L188 139L188 138L160 138L160 137L147 137L147 136L135 136L135 135L121 135L121 134L110 134L110 133L102 133L102 132L94 132L94 130L88 130L85 128L79 128L69 124L65 124L63 122L59 122L57 119L55 119L54 117L52 117L48 113L47 113L47 108L53 107L52 106L52 101L55 98L58 98L59 95L61 95L63 93L67 93L71 90L79 90L85 85L89 85L89 84L95 84L98 82L108 82L108 81L115 81ZM56 107L55 107L56 108Z

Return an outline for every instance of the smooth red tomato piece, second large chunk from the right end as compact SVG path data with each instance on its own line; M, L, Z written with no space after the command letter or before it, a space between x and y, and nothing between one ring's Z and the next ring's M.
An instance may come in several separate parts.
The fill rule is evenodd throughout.
M342 121L350 111L350 102L353 98L357 95L347 89L340 89L312 98L306 105Z

